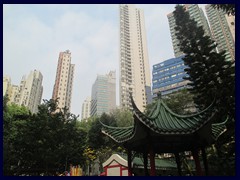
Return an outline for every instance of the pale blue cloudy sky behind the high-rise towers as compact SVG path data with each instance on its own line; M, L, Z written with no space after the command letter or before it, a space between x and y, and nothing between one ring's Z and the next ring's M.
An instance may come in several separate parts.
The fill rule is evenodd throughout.
M174 57L167 14L175 4L136 4L144 10L150 71ZM204 5L200 5L204 7ZM204 8L203 8L204 9ZM36 69L43 75L42 99L51 99L59 52L75 64L71 112L80 115L98 74L115 70L119 105L118 4L4 4L3 75L19 85Z

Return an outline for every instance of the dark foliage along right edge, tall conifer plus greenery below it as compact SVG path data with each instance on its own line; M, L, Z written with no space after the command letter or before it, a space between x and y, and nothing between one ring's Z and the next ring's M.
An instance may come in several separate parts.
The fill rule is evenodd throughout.
M189 75L185 79L190 81L194 103L199 109L204 109L214 101L216 122L230 117L225 135L221 135L215 143L218 153L212 154L212 161L218 163L216 167L220 165L221 174L234 175L235 62L226 61L224 51L215 51L217 45L204 34L202 27L190 19L183 6L177 5L175 9L176 36L180 50L185 54L183 60L188 66L185 71Z

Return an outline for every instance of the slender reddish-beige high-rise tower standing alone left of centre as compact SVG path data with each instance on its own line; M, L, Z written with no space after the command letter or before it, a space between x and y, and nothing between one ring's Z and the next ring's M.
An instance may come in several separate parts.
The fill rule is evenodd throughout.
M66 107L69 112L71 109L74 66L74 64L71 64L71 52L69 50L59 53L52 98L58 98L58 108Z

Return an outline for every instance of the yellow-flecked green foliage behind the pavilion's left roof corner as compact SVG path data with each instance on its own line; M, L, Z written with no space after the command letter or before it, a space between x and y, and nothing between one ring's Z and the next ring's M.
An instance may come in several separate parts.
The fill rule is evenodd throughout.
M113 153L124 152L124 149L101 132L102 122L113 127L129 126L132 124L132 114L127 110L114 110L110 115L103 113L101 117L95 117L91 121L88 131L88 146L85 148L86 164L93 163L97 159L100 164L100 171L103 171L102 163L105 162Z

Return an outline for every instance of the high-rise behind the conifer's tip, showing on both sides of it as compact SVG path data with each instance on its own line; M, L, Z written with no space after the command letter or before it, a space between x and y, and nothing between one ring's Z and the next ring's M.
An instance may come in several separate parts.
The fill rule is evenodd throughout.
M203 27L205 35L208 35L212 38L211 31L208 26L207 19L203 13L203 10L201 8L199 8L197 4L185 4L184 8L187 12L189 12L190 18L194 19L197 22L198 26ZM182 55L184 55L184 53L182 51L180 51L180 47L178 46L179 41L176 36L176 30L175 30L176 22L175 22L173 12L169 13L167 15L167 17L168 17L168 22L169 22L169 27L170 27L174 55L175 55L175 57L182 56Z

